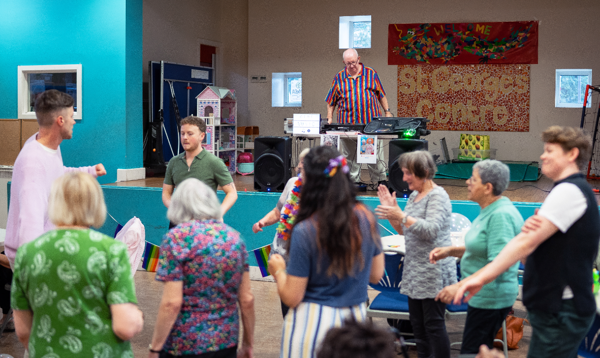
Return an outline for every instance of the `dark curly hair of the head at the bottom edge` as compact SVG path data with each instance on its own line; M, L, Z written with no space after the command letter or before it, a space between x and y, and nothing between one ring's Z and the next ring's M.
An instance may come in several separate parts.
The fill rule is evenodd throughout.
M329 330L317 358L395 358L396 337L373 323L346 321Z

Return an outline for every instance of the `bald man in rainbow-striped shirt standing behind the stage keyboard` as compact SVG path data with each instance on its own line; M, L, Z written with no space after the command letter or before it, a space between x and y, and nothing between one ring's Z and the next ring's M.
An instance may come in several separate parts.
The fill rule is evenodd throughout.
M385 90L377 71L363 65L355 49L344 51L343 62L346 66L334 78L325 101L327 102L327 122L331 124L335 106L338 107L337 121L340 124L368 124L373 117L391 117ZM377 106L379 102L381 108ZM382 141L377 141L377 163L367 164L372 183L386 179L383 160ZM349 161L350 179L361 181L361 165L356 163L356 140L340 139L341 153Z

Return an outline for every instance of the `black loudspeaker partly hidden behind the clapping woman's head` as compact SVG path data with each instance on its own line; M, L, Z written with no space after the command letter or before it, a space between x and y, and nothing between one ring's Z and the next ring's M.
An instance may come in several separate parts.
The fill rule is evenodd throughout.
M429 142L424 139L393 139L389 141L389 186L396 192L396 197L407 198L412 190L409 185L402 180L403 173L398 164L398 157L404 153L413 151L427 151Z

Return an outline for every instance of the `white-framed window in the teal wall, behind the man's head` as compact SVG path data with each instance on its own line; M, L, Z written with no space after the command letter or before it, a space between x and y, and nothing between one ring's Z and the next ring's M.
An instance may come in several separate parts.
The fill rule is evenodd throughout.
M82 119L82 65L17 66L19 119L35 119L35 98L48 89L73 96L73 119Z

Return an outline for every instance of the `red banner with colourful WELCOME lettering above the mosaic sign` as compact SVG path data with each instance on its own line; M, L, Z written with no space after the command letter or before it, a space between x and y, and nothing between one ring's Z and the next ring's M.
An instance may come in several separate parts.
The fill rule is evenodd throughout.
M537 63L537 21L388 26L388 65Z

